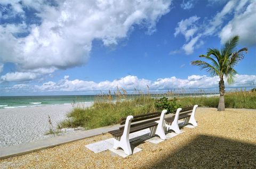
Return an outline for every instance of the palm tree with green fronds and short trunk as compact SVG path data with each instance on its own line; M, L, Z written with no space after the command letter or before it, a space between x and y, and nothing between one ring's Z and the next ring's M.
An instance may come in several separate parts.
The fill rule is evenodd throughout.
M228 84L234 83L235 75L237 72L234 70L234 66L238 64L244 58L244 52L247 53L247 48L242 48L236 51L236 46L239 41L239 36L234 36L226 41L225 45L221 48L221 50L217 48L209 48L207 50L206 55L200 55L199 57L204 57L206 60L211 62L207 63L204 61L193 61L192 65L197 65L201 69L205 69L210 73L212 77L219 76L219 91L220 91L220 99L218 105L218 111L225 111L225 85L224 78L227 79Z

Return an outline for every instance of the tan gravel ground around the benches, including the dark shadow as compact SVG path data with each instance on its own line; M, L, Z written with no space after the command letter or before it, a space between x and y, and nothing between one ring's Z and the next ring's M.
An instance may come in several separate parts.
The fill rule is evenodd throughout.
M256 110L198 108L198 127L127 158L85 145L110 134L0 160L0 168L256 168Z

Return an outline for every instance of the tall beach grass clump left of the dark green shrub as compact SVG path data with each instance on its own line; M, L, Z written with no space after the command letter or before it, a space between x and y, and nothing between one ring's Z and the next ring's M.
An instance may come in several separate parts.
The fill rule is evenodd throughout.
M68 119L60 122L58 128L75 128L82 126L85 130L100 128L102 126L117 124L122 117L156 112L155 100L149 95L130 97L125 92L116 94L111 92L95 98L94 104L89 108L74 107L67 114ZM114 100L115 99L115 100Z

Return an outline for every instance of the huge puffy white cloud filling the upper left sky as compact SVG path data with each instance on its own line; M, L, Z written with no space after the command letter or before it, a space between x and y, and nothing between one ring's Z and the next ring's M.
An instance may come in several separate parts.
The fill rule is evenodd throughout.
M119 39L128 36L135 24L147 28L148 33L154 32L159 18L170 11L171 1L57 1L52 5L49 1L23 0L0 3L10 5L15 15L24 14L23 7L35 9L42 20L39 25L0 25L0 63L14 63L23 74L40 69L43 74L86 63L94 39L102 40L105 46L116 45ZM25 31L29 31L26 37L14 36Z

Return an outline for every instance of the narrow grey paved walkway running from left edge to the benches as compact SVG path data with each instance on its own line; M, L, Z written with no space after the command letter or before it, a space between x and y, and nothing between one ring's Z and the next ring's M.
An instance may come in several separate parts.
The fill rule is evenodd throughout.
M72 142L76 140L97 136L102 133L107 133L108 131L111 131L111 130L116 130L119 128L119 126L120 126L119 124L105 126L103 128L75 132L75 133L71 133L63 136L56 136L49 139L38 140L35 142L21 143L19 145L0 148L0 159L27 154L27 153L42 150L45 148L63 145L64 143L67 143L67 142Z

